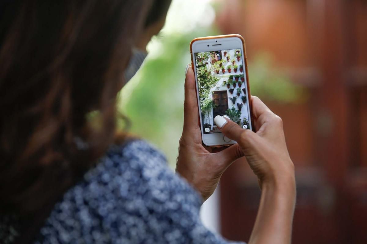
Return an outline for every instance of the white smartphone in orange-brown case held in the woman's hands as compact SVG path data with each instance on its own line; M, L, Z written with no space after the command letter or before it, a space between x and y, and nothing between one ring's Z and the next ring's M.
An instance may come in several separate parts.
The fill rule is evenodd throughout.
M243 129L253 129L245 41L238 34L195 38L190 53L203 144L235 144L221 133L214 118L226 115Z

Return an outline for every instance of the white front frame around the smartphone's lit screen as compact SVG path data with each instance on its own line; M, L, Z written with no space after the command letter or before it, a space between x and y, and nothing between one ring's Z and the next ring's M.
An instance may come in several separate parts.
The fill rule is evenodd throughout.
M218 45L221 44L221 45ZM208 46L209 45L209 46ZM214 45L214 46L213 46ZM224 35L224 36L212 36L212 37L200 37L195 38L190 43L190 52L191 52L191 60L192 60L192 68L195 73L195 83L196 83L196 96L197 96L197 104L199 106L199 89L197 83L197 73L196 73L196 62L195 62L195 53L197 52L208 52L208 51L217 51L217 50L229 50L229 49L241 49L242 63L244 64L244 73L246 79L246 96L247 96L247 109L249 112L249 123L250 129L253 130L253 122L252 122L252 107L251 107L251 99L250 99L250 86L248 82L248 71L247 71L247 57L246 57L246 48L245 42L242 36L233 34L233 35ZM211 133L204 134L203 125L201 123L201 111L199 106L199 125L201 131L201 138L204 145L215 147L215 146L223 146L223 145L232 145L235 144L236 141L224 141L223 133Z

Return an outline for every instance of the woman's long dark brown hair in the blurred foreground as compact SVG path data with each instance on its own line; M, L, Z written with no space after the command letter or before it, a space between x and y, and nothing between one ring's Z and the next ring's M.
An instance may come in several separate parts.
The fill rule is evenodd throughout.
M41 211L112 143L116 93L150 4L1 6L0 214Z

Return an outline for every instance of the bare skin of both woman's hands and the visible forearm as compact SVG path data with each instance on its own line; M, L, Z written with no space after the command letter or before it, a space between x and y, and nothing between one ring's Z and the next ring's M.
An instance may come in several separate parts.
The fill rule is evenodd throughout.
M189 68L185 80L184 125L179 143L177 172L204 200L214 192L222 173L236 159L247 162L262 189L259 210L249 244L291 243L295 207L294 164L288 154L283 122L258 98L251 96L257 131L244 130L235 122L215 117L214 122L236 144L211 153L201 144L195 77ZM244 156L244 157L243 157Z

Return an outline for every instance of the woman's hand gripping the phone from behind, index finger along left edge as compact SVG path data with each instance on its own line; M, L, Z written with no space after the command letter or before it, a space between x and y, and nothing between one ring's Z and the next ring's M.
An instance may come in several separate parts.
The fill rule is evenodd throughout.
M195 74L186 69L183 131L179 141L176 171L201 193L204 201L214 192L227 167L243 156L238 144L224 150L201 144Z

